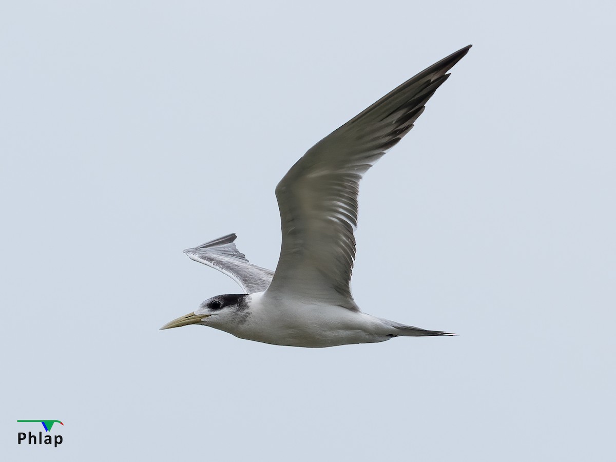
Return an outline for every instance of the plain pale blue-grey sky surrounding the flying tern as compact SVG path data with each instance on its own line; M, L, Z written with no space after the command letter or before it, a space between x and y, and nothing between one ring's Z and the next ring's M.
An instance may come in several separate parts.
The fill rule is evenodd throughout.
M4 460L614 457L610 2L3 2ZM274 186L472 43L362 183L355 299L453 338L158 328L274 269ZM16 419L60 419L59 448ZM38 428L32 430L38 432Z

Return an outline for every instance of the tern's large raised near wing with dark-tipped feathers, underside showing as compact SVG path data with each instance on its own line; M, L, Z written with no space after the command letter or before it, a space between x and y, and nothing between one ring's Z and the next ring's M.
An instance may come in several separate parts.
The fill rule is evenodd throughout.
M413 128L424 104L448 78L464 47L326 136L304 154L276 188L282 248L268 294L352 302L357 195L363 174Z

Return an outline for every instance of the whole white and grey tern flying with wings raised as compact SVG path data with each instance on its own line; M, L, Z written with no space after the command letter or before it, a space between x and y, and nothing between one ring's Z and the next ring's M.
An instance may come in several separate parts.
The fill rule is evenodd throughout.
M369 315L351 294L354 230L363 175L407 134L471 45L389 92L310 148L276 187L282 246L275 272L248 262L235 234L185 254L233 278L241 294L218 295L163 327L210 326L242 339L296 347L453 335Z

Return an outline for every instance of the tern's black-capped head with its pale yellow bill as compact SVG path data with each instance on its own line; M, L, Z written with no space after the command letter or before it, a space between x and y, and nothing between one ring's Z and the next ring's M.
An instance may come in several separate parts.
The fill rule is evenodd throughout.
M246 294L217 295L208 298L197 310L166 323L160 330L200 324L227 331L245 318L248 309L247 298Z

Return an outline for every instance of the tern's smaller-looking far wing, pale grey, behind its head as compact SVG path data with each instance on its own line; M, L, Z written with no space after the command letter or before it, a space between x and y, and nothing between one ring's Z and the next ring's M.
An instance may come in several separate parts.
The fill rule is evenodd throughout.
M211 266L233 278L247 294L266 290L274 272L248 262L233 241L235 233L214 239L192 249L186 249L185 254L191 260Z

